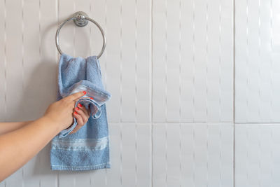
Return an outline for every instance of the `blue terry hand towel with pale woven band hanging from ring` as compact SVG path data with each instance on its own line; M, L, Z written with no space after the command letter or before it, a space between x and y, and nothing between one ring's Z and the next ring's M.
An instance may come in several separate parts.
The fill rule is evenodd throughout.
M57 80L57 100L81 90L87 92L75 106L80 103L90 109L90 118L80 130L69 134L77 125L73 118L73 124L52 139L50 168L72 171L110 168L105 102L111 95L104 90L97 56L71 57L62 53Z

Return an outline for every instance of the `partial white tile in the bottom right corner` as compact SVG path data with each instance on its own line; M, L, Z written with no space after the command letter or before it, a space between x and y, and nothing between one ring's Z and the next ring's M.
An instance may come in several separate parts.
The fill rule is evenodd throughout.
M279 133L279 124L236 125L236 186L280 185Z

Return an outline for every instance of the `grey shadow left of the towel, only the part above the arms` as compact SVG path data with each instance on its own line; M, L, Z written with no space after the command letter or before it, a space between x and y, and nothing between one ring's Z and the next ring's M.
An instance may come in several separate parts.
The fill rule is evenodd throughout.
M15 111L9 113L8 120L35 120L43 116L45 109L52 102L55 102L57 95L57 60L53 57L53 54L47 54L46 48L49 48L46 44L46 34L50 33L56 25L50 25L41 33L41 57L36 64L32 62L24 61L24 90L22 90L21 98L18 99L18 106L15 106ZM38 39L37 33L34 33L32 40ZM34 43L34 41L25 41L25 43ZM31 46L30 46L31 47ZM53 48L55 48L55 43ZM31 50L27 50L31 51ZM54 51L55 52L55 51ZM29 52L30 53L30 52ZM25 56L38 56L38 50L32 51L34 54L25 54ZM50 53L50 50L48 50ZM50 58L51 57L51 58ZM55 61L54 61L55 60ZM22 81L22 80L19 80ZM21 88L18 88L20 92Z

